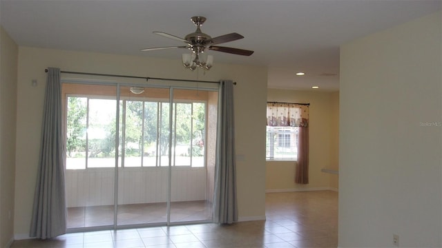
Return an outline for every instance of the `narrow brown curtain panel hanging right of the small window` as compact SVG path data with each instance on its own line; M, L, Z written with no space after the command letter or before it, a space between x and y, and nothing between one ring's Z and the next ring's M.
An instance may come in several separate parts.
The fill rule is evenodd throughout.
M299 127L295 183L309 183L309 127Z

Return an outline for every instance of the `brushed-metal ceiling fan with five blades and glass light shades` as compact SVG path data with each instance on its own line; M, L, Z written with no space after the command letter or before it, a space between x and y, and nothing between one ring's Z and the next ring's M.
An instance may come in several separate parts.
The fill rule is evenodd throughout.
M211 65L207 65L206 59L201 59L202 54L205 50L213 50L218 52L227 52L230 54L238 54L243 56L250 56L253 54L253 51L251 50L244 50L239 48L227 48L224 46L219 46L220 43L226 43L229 41L236 41L238 39L244 38L241 34L238 34L236 32L233 32L231 34L224 34L219 37L212 38L209 36L209 34L204 34L201 32L201 25L206 21L206 17L191 17L191 21L195 26L197 27L195 32L187 34L186 37L180 38L173 34L168 34L166 32L153 32L154 34L161 35L162 37L175 39L177 41L182 41L186 43L185 45L177 45L177 46L167 46L167 47L159 47L159 48L145 48L142 49L142 51L153 51L153 50L164 50L164 49L171 49L171 48L186 48L193 52L191 59L190 55L189 58L186 57L184 59L183 54L183 65L186 68L189 68L191 70L195 70L195 66L198 65L206 70L209 70ZM209 55L210 56L210 55ZM211 58L213 60L213 57ZM186 61L185 61L186 60ZM209 66L209 68L207 68Z

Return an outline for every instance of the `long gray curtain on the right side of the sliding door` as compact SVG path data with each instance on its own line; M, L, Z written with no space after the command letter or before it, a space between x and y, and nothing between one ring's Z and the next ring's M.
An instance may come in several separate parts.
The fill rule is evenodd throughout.
M215 196L213 200L213 221L220 224L231 224L238 221L235 126L233 124L233 81L220 81Z

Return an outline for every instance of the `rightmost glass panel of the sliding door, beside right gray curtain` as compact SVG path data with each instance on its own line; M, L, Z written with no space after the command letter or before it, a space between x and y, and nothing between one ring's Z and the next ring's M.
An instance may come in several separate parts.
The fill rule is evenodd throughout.
M207 91L173 90L171 137L171 223L186 223L212 219L212 198L208 185L207 139L216 130L210 126L208 134ZM212 99L215 100L215 99Z

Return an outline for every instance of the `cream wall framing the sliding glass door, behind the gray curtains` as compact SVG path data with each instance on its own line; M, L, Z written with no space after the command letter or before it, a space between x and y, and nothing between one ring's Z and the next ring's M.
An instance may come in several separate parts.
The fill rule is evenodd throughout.
M250 125L250 120L257 120L265 116L267 69L257 66L215 64L210 72L205 74L200 72L197 75L197 72L184 70L179 57L177 54L177 60L166 60L145 56L19 48L17 176L15 182L16 238L27 238L29 232L37 172L41 115L46 84L44 69L46 67L57 67L67 71L171 79L205 81L232 79L236 81L238 83L234 90L236 152L242 158L237 162L239 217L240 220L265 218L265 136L255 135L265 133L265 123ZM79 76L62 74L62 77L75 80L73 78ZM32 79L37 80L37 87L32 87ZM137 82L146 83L143 80ZM162 81L149 81L148 83L160 84ZM244 97L251 94L253 97ZM256 156L256 154L262 154L262 156Z

